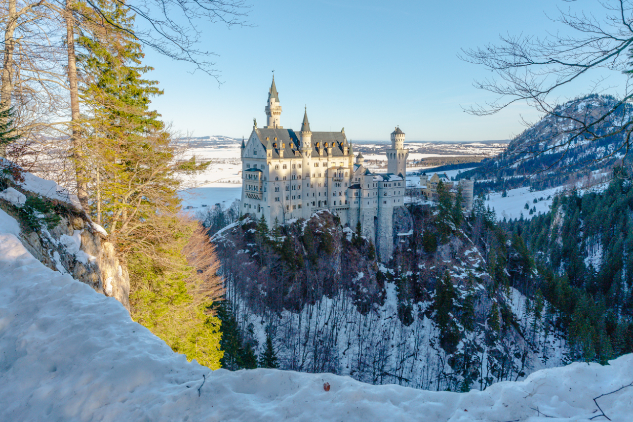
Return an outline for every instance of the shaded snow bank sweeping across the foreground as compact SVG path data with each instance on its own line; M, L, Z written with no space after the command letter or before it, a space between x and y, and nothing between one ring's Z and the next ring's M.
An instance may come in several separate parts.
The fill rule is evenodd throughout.
M1 421L584 421L600 414L594 397L633 382L633 355L462 394L212 372L130 321L115 299L35 260L11 220L0 210ZM611 420L630 420L633 387L598 404Z

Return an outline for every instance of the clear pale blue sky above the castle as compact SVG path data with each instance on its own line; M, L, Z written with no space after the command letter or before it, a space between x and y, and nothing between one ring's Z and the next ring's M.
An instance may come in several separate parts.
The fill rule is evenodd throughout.
M188 63L146 50L149 75L165 94L153 107L180 133L248 137L275 71L281 124L298 130L304 106L312 130L345 128L351 140L387 140L398 125L407 140L501 140L539 114L516 104L492 116L464 108L491 101L473 87L491 72L458 58L461 49L494 43L500 34L546 35L557 7L603 15L596 0L261 0L251 1L249 27L200 23L201 49L219 80ZM563 28L564 29L564 28ZM589 92L590 76L560 101ZM618 75L615 76L618 78ZM619 80L608 82L617 87Z

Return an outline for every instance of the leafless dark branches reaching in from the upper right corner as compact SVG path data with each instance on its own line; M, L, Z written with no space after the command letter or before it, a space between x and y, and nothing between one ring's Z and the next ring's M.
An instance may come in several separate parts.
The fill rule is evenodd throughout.
M575 0L561 1L572 3ZM475 82L475 87L498 96L495 101L468 108L467 111L473 115L491 115L515 102L526 101L538 111L569 123L564 133L551 134L552 138L565 135L560 144L544 147L534 143L522 153L539 154L556 149L557 152L563 151L564 156L577 140L598 140L619 135L620 142L605 158L628 154L633 131L633 90L630 89L633 2L603 0L599 4L605 12L601 17L584 11L559 9L560 16L551 18L551 21L561 25L563 32L550 33L543 38L502 36L500 44L463 51L462 59L482 65L496 74L496 77ZM556 107L553 96L560 92L561 87L580 82L586 75L596 75L589 87L591 92L608 89L605 71L624 73L626 79L613 106L594 115L581 116ZM533 155L528 158L530 156Z

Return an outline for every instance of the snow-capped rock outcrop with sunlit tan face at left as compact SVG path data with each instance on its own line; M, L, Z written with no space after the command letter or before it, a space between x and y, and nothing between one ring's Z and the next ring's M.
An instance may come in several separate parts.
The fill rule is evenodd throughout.
M5 173L0 175L0 210L20 222L22 244L44 265L115 297L129 310L127 268L108 233L91 221L76 197L29 173Z

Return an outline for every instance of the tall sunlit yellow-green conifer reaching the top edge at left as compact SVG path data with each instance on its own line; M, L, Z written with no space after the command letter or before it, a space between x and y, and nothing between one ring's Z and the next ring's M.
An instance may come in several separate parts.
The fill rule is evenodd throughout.
M179 209L176 171L197 171L193 161L177 163L177 149L160 115L149 109L151 97L162 94L158 82L142 77L152 70L143 66L144 54L134 37L134 17L122 3L99 3L103 15L83 10L87 23L77 37L80 97L87 113L82 132L92 165L90 211L111 236L127 242L153 233L133 234L151 226L156 214ZM108 25L90 22L107 20ZM84 170L88 170L84 168Z

